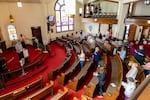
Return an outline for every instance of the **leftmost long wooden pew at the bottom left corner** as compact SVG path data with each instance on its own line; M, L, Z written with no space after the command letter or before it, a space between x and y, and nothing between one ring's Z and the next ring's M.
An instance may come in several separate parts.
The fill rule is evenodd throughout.
M18 98L19 96L21 96L25 93L28 93L30 91L33 91L39 87L42 88L42 80L43 80L43 77L40 76L35 81L31 82L30 84L27 84L19 89L16 89L9 93L1 95L0 100L14 100L14 99Z

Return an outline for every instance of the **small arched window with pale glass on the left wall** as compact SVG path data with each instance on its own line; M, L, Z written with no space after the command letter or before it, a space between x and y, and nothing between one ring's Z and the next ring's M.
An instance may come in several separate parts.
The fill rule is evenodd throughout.
M17 33L16 33L16 28L14 25L8 25L8 33L9 33L9 39L12 40L17 40Z

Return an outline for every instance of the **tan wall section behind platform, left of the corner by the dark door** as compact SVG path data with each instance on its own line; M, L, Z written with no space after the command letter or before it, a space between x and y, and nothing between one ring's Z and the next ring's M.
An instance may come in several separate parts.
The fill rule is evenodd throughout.
M15 19L14 25L16 26L18 35L23 34L25 37L31 39L31 27L42 26L41 6L38 3L23 3L22 8L18 8L16 3L0 3L0 13L0 27L7 47L11 46L7 32L7 26L10 24L10 14L12 14ZM31 41L27 42L31 43Z

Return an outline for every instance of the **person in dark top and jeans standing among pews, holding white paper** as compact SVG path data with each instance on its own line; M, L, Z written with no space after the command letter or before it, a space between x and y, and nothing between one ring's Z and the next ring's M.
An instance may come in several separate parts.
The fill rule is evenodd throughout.
M103 91L104 91L104 84L105 84L105 69L104 67L100 66L98 72L93 73L94 76L98 77L99 80L99 96L102 98L103 97Z

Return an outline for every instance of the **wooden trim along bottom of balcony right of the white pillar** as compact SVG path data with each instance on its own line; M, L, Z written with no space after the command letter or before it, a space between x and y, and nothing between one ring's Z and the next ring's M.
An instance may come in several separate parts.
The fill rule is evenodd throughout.
M140 26L150 26L150 23L148 23L149 20L147 19L131 19L127 18L125 19L125 24L136 24Z

